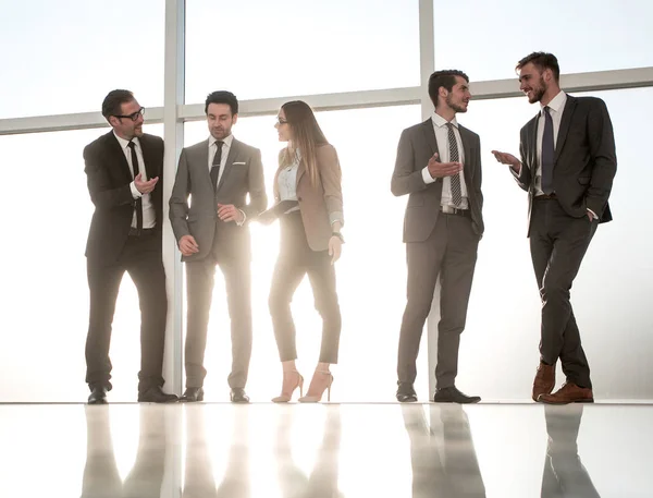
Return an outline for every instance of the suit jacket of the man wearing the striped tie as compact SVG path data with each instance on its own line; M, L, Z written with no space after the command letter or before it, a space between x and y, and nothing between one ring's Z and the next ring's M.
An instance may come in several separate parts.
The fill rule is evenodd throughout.
M473 231L483 234L483 193L481 192L481 141L479 135L458 124L465 151L463 173L467 185L469 209ZM404 218L404 242L426 241L438 221L442 199L442 179L426 184L422 169L438 150L433 121L429 118L402 133L397 147L397 160L392 175L394 195L409 194Z

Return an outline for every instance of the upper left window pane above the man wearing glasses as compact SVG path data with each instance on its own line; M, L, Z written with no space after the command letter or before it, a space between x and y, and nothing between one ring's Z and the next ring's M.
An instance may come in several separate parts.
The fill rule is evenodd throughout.
M2 14L0 118L99 111L125 87L163 104L163 2L33 0Z

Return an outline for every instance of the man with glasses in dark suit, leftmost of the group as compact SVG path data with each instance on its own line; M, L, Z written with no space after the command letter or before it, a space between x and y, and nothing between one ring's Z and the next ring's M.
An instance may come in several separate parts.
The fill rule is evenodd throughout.
M84 171L95 205L86 245L89 404L106 403L111 390L111 324L125 271L138 290L141 317L138 401L177 399L161 390L168 309L161 257L163 141L143 133L144 112L131 92L110 92L102 116L112 130L84 149Z

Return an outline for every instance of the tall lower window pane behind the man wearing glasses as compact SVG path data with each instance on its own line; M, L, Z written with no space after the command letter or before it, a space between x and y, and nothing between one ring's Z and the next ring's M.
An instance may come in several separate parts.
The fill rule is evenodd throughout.
M147 126L161 135L162 125ZM84 251L93 204L84 146L107 130L0 136L7 206L0 259L0 400L85 401L88 286ZM47 160L44 160L47 158ZM113 320L112 401L135 401L140 314L125 275Z

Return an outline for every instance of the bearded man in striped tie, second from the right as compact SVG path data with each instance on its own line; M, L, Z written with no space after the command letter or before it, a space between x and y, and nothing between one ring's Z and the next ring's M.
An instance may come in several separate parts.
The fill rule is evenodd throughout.
M408 264L407 303L399 332L399 402L417 401L412 387L422 329L440 277L436 402L476 403L455 386L458 347L483 234L481 143L459 125L467 112L469 78L460 71L436 71L429 78L435 111L427 121L404 130L392 177L394 195L409 194L404 220Z

